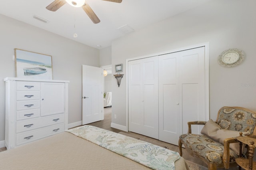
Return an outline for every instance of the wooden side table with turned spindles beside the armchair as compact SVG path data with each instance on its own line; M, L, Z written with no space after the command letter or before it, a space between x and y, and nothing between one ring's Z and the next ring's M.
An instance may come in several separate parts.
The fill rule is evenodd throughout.
M239 170L241 170L241 167L244 168L245 170L256 170L256 162L253 162L253 154L255 149L254 143L256 143L256 138L242 136L240 132L240 136L236 137L236 139L240 142L240 156L239 158L236 158L236 163L239 166ZM241 158L242 143L247 144L249 146L248 159Z

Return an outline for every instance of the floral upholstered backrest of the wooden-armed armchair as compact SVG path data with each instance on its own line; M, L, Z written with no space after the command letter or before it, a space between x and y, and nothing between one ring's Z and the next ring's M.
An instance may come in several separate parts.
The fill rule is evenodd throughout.
M222 109L217 124L222 129L253 133L256 114L240 109Z

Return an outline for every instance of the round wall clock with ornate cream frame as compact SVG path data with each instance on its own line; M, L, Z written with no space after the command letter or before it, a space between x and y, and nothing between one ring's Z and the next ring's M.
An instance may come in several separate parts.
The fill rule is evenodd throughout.
M223 51L218 57L218 63L223 67L234 67L244 59L244 53L236 48Z

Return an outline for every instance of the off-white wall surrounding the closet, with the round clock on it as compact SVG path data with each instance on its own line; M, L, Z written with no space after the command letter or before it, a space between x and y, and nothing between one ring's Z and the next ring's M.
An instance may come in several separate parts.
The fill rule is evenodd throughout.
M216 120L223 106L256 111L255 6L255 0L214 0L114 40L112 71L123 63L124 78L120 87L112 80L112 123L126 126L126 59L204 42L210 43L210 118ZM225 68L217 57L229 48L243 50L246 57Z

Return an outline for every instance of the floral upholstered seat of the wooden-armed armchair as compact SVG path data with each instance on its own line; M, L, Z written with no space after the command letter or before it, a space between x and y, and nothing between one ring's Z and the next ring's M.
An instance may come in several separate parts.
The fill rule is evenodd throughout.
M209 162L213 164L222 163L223 144L215 142L204 134L182 134L180 139L186 143L188 148L203 156ZM235 158L238 158L238 155L230 150L230 162L235 162Z

